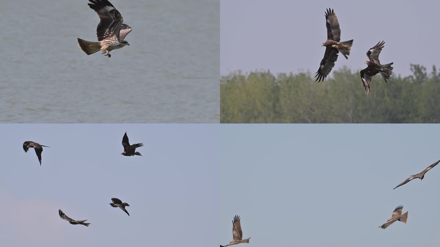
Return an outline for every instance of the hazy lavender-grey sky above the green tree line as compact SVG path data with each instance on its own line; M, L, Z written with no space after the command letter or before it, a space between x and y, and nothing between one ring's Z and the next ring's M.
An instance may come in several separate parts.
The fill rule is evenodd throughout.
M380 40L385 47L379 58L383 64L394 62L395 74L411 74L411 63L425 65L428 72L440 65L440 1L221 0L220 74L238 69L315 73L325 51L328 7L339 20L341 41L354 40L348 60L340 54L334 70L365 68L368 49Z

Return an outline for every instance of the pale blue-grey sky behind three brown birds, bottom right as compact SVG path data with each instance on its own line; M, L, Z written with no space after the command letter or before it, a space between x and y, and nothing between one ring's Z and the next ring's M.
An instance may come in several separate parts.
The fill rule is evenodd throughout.
M440 243L440 125L222 125L220 244L240 215L249 247ZM380 229L403 205L408 222ZM247 247L247 245L245 246Z

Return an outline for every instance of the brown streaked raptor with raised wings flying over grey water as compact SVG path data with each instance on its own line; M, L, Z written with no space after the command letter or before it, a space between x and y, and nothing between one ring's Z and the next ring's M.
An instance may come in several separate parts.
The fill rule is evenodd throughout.
M88 6L99 15L99 24L96 29L96 36L99 42L78 40L81 51L85 54L93 54L102 50L105 56L110 58L110 51L122 48L128 44L125 36L132 30L127 24L122 24L121 13L110 4L108 0L89 0Z

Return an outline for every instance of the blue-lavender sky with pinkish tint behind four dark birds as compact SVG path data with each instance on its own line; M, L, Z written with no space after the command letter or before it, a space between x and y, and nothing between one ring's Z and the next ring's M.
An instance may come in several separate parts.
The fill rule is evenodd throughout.
M215 125L2 124L2 246L218 246ZM122 156L122 136L143 156ZM24 141L43 148L42 165ZM117 197L130 216L109 205ZM89 227L71 225L61 209ZM194 241L197 239L197 241Z

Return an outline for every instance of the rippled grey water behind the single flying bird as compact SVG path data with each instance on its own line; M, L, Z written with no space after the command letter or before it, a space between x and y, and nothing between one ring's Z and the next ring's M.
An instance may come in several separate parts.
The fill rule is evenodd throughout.
M0 122L218 123L220 4L110 0L130 46L86 55L97 41L88 0L0 6Z

